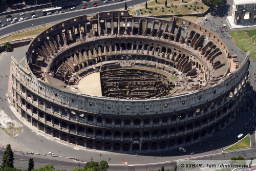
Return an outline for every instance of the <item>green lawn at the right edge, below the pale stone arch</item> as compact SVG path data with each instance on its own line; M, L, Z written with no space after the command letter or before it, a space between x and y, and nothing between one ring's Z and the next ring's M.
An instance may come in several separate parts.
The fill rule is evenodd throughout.
M229 34L232 36L234 45L239 49L243 48L244 52L251 51L251 58L256 61L254 55L256 53L256 30L229 32Z

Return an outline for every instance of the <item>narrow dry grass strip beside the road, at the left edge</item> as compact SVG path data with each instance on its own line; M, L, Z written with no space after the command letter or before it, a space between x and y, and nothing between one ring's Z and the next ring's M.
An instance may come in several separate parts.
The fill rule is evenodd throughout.
M24 32L20 32L20 33L17 33L17 34L13 34L13 35L1 38L0 39L0 44L2 44L3 42L6 42L6 41L12 41L12 40L17 40L17 39L25 39L25 38L35 37L39 33L41 33L42 31L44 31L45 29L48 29L52 26L53 25L48 25L48 26L44 26L44 27L40 27L40 28L37 28L37 29L28 30L28 31L24 31Z

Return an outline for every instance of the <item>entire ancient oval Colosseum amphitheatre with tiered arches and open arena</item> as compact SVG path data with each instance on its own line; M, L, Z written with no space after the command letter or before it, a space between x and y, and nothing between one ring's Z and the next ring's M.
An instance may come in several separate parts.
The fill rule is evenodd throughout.
M88 148L170 149L236 118L249 55L180 17L109 11L77 16L35 37L26 68L12 57L8 95L38 131Z

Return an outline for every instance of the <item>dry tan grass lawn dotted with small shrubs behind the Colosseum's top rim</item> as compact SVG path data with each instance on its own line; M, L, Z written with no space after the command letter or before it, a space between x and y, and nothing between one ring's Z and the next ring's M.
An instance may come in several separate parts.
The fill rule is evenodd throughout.
M190 13L197 13L197 11L199 13L202 13L208 9L208 6L204 5L202 1L198 1L198 4L196 4L196 2L184 3L182 5L179 5L179 4L180 3L173 3L173 6L171 7L170 3L168 2L167 7L165 7L164 3L158 4L158 3L155 3L155 1L151 1L148 3L147 9L145 9L145 4L144 4L132 9L132 14L135 14L135 10L139 10L139 9L141 9L140 11L142 12L141 15L190 14Z

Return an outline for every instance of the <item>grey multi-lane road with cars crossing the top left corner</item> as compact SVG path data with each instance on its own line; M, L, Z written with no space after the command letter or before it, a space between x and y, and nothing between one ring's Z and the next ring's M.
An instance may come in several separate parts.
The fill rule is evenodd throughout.
M97 2L98 3L98 7L94 7L92 5L93 2ZM136 5L136 4L140 4L145 2L145 0L136 0L136 1L128 1L127 2L127 6L131 6ZM120 8L124 8L124 3L123 2L118 2L118 1L109 1L109 3L103 3L103 1L91 1L86 3L87 4L87 9L81 9L84 5L84 3L81 3L80 5L75 6L76 10L73 10L72 12L69 12L68 10L71 7L64 7L63 9L65 10L65 13L62 14L52 14L49 16L41 16L41 10L39 11L35 11L36 15L39 15L39 18L31 18L30 13L33 11L28 11L25 13L25 17L29 17L30 19L22 21L22 22L17 22L15 25L11 24L11 22L7 22L7 18L6 16L0 16L0 20L2 21L2 24L7 24L7 25L11 25L11 26L6 26L6 27L1 27L0 29L0 37L2 37L5 34L9 34L9 33L13 33L17 30L23 30L26 28L30 28L33 26L39 26L42 24L46 24L46 23L51 23L51 22L55 22L57 20L61 20L61 19L67 19L70 17L75 17L78 15L84 15L84 14L94 14L96 12L102 12L102 11L109 11L109 10L116 10L116 9L120 9ZM17 14L12 14L12 18L19 18L20 17L20 13Z

